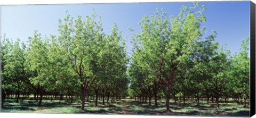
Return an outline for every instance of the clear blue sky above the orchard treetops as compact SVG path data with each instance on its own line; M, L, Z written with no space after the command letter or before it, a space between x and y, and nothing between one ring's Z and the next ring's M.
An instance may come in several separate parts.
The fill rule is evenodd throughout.
M217 31L215 39L220 44L227 44L226 48L234 52L239 51L241 40L250 35L250 1L242 2L200 2L205 5L206 27L209 35L212 30ZM156 8L164 9L167 15L177 16L180 7L193 6L192 2L165 2L165 3L115 3L115 4L69 4L69 5L13 5L1 7L1 35L6 38L27 41L38 30L42 36L58 35L58 19L68 14L75 19L81 15L91 15L93 10L101 16L103 30L109 34L111 26L117 23L122 36L126 39L128 52L132 48L130 43L131 31L140 33L138 25L142 15L153 15Z

